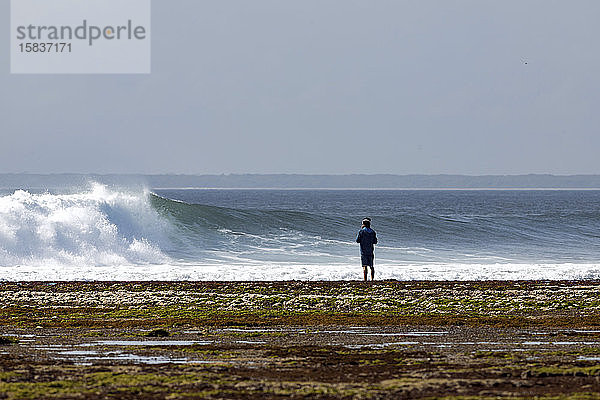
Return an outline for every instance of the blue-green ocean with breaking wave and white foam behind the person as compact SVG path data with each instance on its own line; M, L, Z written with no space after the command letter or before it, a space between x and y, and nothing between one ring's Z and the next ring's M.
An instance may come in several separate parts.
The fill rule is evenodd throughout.
M599 279L597 190L0 191L0 280Z

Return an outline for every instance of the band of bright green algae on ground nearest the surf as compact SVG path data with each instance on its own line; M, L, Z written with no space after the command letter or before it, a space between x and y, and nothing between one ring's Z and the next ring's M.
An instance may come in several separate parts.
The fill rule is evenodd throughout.
M93 290L97 289L97 290ZM42 283L0 288L0 324L600 326L597 282ZM35 311L35 312L32 312ZM361 323L361 321L363 321Z

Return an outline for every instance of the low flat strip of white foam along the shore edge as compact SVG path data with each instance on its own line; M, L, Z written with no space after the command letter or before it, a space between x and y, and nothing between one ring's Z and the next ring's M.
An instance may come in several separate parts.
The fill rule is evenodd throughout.
M376 279L396 280L563 280L598 279L598 264L414 264L377 265ZM357 280L362 278L358 265L308 265L240 263L146 264L45 267L0 267L0 280L199 280L199 281L269 281L269 280Z

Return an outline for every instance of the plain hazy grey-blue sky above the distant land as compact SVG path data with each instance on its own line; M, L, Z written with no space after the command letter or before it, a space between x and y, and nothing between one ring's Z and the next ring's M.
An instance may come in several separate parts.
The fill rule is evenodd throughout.
M0 173L600 174L597 0L153 0L152 73L10 74Z

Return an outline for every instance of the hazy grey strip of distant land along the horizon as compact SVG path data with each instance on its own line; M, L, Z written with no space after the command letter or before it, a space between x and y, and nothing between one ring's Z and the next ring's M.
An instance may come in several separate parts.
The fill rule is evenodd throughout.
M248 189L600 189L600 175L393 175L393 174L0 174L0 188L143 185L149 188Z

